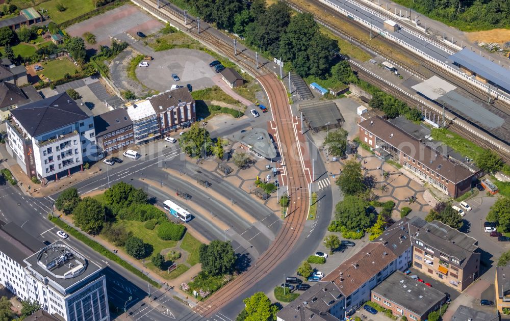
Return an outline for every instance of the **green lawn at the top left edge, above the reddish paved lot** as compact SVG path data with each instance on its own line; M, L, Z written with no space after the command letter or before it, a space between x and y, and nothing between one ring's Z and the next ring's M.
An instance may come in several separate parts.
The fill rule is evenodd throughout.
M58 3L62 3L67 9L64 12L58 11ZM95 5L93 0L49 0L37 6L36 10L40 11L41 8L47 10L52 21L59 24L94 10Z

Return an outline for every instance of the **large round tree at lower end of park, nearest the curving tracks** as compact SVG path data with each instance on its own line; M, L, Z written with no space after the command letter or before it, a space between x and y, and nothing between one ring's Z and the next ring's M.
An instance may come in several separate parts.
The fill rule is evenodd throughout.
M209 245L202 244L198 256L202 270L209 275L229 274L234 270L236 254L230 242L213 240Z

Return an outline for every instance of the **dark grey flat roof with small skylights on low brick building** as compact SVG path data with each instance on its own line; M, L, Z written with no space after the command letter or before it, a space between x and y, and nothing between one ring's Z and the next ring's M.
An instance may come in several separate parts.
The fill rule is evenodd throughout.
M446 295L400 271L395 271L381 284L372 289L382 298L392 301L406 310L424 315L446 299Z

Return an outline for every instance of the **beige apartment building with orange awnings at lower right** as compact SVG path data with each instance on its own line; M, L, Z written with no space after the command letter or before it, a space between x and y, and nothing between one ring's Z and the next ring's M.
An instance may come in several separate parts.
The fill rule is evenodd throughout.
M478 241L438 221L410 220L413 265L422 273L463 291L479 275Z

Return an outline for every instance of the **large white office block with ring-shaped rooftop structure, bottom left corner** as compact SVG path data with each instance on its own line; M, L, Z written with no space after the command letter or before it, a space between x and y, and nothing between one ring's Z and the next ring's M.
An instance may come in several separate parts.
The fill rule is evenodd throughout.
M66 242L46 246L14 223L0 222L0 281L21 300L35 300L66 321L106 321L106 278Z

